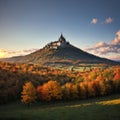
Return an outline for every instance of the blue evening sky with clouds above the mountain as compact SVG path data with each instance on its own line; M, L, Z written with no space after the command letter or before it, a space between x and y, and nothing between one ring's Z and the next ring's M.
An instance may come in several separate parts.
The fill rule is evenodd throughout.
M0 58L25 55L61 33L89 53L120 60L120 0L0 0Z

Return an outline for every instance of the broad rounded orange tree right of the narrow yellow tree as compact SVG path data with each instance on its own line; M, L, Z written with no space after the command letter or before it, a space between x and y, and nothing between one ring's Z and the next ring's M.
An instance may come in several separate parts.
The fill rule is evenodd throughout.
M48 81L42 86L41 96L42 100L46 101L61 99L62 91L60 85L56 81Z

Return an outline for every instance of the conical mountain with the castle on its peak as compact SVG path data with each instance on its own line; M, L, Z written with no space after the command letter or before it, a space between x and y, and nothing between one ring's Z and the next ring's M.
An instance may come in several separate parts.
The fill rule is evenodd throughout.
M63 35L55 41L47 44L26 56L7 59L11 62L35 63L35 64L79 64L79 63L107 63L116 64L117 62L95 56L71 45Z

